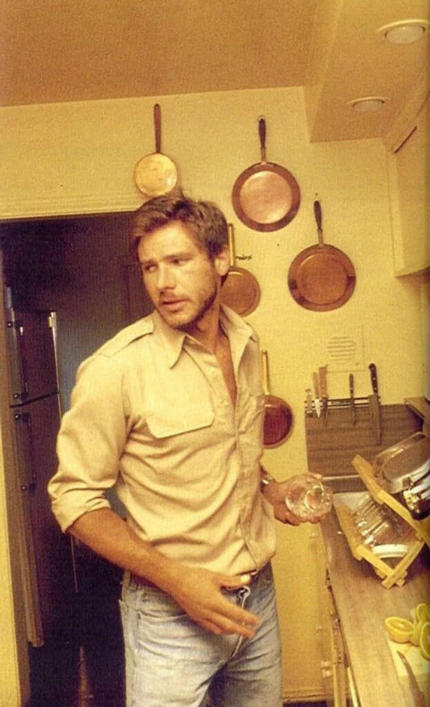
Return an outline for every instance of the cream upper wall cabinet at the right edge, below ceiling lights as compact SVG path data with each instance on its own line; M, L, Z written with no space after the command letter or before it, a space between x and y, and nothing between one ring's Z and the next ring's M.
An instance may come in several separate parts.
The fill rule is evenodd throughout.
M388 182L396 275L430 269L429 99L388 151Z

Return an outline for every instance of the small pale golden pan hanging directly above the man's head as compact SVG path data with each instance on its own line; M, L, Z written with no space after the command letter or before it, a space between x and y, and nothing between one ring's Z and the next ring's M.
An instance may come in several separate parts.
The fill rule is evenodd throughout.
M178 182L178 170L173 160L161 152L161 107L153 107L156 151L142 157L134 168L134 183L146 197L168 194Z

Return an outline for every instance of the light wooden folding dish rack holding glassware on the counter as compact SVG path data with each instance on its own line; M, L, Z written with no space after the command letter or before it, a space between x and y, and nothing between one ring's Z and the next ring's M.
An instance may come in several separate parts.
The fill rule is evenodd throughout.
M401 556L397 563L392 566L383 557L372 551L371 547L364 541L356 525L356 511L342 503L337 504L336 512L339 523L347 538L352 554L358 560L364 559L373 566L378 577L382 581L383 587L389 589L393 585L402 586L407 577L407 569L424 547L430 547L430 516L423 520L415 520L409 510L402 506L388 491L385 491L378 483L374 469L361 455L356 455L352 460L352 465L361 479L364 481L366 489L373 501L382 507L388 508L388 513L392 512L399 518L399 523L405 531L401 542L407 547L407 552Z

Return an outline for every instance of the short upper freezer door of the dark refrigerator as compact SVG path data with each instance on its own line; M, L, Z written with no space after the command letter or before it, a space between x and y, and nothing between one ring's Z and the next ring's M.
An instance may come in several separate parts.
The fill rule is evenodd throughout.
M54 312L8 310L11 405L58 390Z

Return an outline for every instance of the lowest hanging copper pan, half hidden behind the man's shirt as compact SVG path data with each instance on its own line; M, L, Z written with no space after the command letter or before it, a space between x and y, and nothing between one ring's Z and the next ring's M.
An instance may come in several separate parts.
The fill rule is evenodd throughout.
M261 352L262 383L265 392L265 417L263 446L277 447L284 443L293 431L293 411L288 403L269 393L267 351Z

